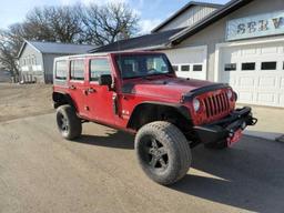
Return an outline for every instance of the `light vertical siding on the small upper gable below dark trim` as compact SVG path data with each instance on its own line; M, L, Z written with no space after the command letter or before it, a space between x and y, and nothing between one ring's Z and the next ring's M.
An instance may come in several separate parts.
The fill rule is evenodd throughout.
M159 30L166 31L178 28L184 28L190 27L210 14L211 12L215 11L216 8L210 8L204 6L192 6L186 11L184 11L181 16L176 17L174 20L172 20L170 23L164 26Z

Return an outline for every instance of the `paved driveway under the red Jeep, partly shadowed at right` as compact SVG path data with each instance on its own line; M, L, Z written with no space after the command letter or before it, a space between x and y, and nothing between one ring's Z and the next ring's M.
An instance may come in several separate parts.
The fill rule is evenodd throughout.
M283 212L284 144L244 136L226 151L193 150L171 187L140 170L133 138L84 124L60 138L54 114L0 123L0 212Z

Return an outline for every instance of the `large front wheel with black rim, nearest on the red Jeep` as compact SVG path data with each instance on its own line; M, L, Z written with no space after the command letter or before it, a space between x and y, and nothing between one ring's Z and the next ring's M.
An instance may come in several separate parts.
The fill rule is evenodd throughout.
M135 152L144 173L162 185L181 180L191 166L190 144L169 122L156 121L142 126L135 136Z

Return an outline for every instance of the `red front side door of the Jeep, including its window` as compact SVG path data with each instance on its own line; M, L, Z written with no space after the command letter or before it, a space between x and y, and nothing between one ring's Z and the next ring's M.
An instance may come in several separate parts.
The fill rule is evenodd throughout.
M115 92L109 90L108 85L99 84L101 74L111 74L110 61L106 57L98 57L89 59L88 64L89 80L85 83L85 102L89 108L89 118L105 124L114 124L113 99Z

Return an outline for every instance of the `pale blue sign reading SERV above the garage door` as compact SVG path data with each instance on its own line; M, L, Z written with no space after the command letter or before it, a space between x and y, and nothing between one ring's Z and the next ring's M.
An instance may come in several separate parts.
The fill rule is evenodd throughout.
M284 11L230 20L226 40L241 40L284 33Z

